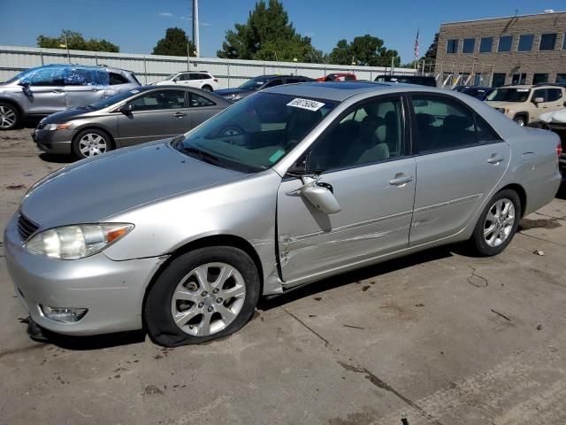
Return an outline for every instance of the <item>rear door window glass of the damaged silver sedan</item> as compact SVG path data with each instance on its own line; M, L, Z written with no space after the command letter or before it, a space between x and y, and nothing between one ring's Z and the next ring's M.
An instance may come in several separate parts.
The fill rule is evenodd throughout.
M432 95L411 99L418 153L462 149L499 140L484 120L455 100Z

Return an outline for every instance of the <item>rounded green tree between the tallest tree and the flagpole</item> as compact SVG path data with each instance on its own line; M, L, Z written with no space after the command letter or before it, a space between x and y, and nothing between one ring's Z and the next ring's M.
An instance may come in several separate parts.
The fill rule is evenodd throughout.
M350 43L344 39L337 42L328 55L328 62L337 65L391 66L392 58L394 66L399 66L397 50L387 49L383 40L366 34L354 38Z

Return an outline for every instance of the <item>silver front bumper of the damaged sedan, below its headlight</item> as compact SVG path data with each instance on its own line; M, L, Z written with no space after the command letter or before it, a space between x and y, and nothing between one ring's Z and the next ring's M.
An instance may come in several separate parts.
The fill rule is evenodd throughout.
M4 231L4 253L16 293L42 328L65 335L97 335L142 328L145 289L164 258L113 261L103 252L85 259L58 260L26 251L18 214ZM54 321L40 305L87 308L74 323Z

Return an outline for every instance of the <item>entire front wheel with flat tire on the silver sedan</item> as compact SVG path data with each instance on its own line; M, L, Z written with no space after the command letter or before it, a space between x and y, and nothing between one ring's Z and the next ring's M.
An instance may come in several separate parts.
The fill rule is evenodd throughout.
M149 290L143 312L148 334L168 347L230 335L254 313L259 288L246 252L228 246L187 252Z

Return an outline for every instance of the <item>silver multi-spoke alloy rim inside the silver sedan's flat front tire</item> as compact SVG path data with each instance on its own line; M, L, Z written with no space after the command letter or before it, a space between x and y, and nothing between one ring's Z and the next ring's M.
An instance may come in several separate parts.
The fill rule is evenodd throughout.
M188 335L209 336L236 319L245 298L246 285L235 267L203 264L185 275L173 292L172 319Z

